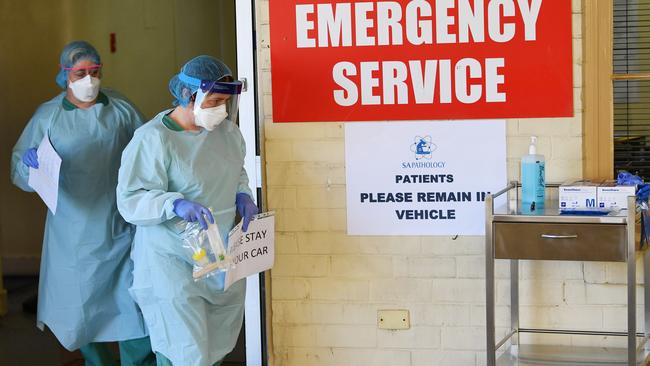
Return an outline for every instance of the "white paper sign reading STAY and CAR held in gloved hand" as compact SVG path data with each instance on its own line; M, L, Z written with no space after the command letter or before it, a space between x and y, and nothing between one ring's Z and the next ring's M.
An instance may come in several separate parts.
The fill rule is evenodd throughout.
M246 232L242 223L228 234L228 254L234 268L226 272L225 289L242 278L267 271L275 260L275 216L274 212L255 215Z

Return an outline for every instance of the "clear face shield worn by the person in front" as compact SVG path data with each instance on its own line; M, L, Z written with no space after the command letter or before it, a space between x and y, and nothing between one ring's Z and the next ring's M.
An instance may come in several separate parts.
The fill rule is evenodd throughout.
M224 108L228 114L226 119L237 123L239 111L239 96L242 92L241 81L209 81L202 80L201 86L196 91L194 100L195 113L199 109Z

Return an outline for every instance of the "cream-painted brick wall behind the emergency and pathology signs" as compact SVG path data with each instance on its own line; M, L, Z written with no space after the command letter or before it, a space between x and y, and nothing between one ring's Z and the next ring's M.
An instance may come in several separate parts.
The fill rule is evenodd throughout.
M257 34L267 197L278 225L271 274L274 365L485 364L483 237L346 235L343 124L273 123L268 3L257 1ZM547 181L581 177L580 0L573 1L573 52L575 116L508 120L509 179L519 178L519 158L533 134L547 159ZM524 262L520 272L523 325L625 327L623 266ZM504 334L510 291L505 263L497 265L496 276L496 321ZM411 329L379 330L377 310L386 308L408 309ZM598 337L522 339L619 344Z

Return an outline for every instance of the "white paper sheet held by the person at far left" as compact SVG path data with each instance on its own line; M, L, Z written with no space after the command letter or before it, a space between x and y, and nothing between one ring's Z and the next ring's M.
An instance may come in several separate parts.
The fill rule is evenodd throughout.
M56 206L59 200L61 157L54 150L48 136L45 136L41 141L37 154L38 169L29 168L27 183L41 196L50 211L56 214Z

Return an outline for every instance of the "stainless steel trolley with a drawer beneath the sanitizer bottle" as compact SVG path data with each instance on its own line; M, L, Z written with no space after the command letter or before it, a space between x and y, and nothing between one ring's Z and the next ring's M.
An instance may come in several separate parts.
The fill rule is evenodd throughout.
M520 185L511 182L486 198L485 290L487 364L493 365L646 365L650 360L650 292L644 291L645 332L636 330L635 210L607 216L560 215L557 202L547 202L536 214L519 209ZM558 185L547 185L556 188ZM513 197L512 194L515 194ZM507 205L495 208L495 198L507 195ZM514 198L514 201L511 199ZM628 207L634 207L628 197ZM512 205L511 202L517 202ZM515 207L512 207L515 206ZM510 260L510 320L506 336L495 339L495 259ZM627 332L532 329L519 324L519 260L612 261L627 264ZM650 268L650 251L643 255ZM644 271L650 283L650 270ZM521 345L521 333L627 337L627 348ZM497 359L497 351L508 344Z

